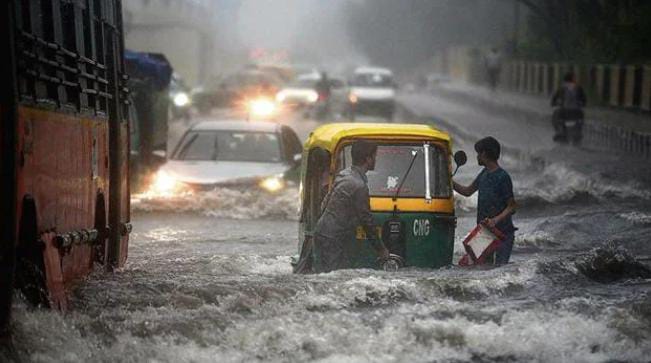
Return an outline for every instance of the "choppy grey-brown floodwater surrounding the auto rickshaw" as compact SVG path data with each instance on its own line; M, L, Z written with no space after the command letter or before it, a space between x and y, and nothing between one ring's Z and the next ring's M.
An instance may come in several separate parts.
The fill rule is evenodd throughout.
M470 159L457 178L469 183L479 170L472 144L457 141ZM271 197L218 190L194 199L138 200L124 269L80 284L65 314L15 303L16 356L30 362L649 361L651 275L644 264L651 254L651 189L605 175L596 164L586 172L541 155L504 155L519 230L512 263L495 269L294 275L295 188ZM474 225L475 204L457 202L455 262Z

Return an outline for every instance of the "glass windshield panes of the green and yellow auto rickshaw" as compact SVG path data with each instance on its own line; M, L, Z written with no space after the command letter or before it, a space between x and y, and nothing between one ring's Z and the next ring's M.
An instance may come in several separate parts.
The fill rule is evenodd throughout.
M339 168L352 165L351 146L346 145L339 154ZM423 144L381 144L378 145L375 170L366 173L371 196L392 197L396 194L402 178L417 152L416 160L400 189L401 197L425 197L425 148ZM432 145L430 152L430 191L433 198L449 198L450 177L448 158L445 151Z

